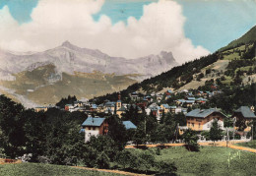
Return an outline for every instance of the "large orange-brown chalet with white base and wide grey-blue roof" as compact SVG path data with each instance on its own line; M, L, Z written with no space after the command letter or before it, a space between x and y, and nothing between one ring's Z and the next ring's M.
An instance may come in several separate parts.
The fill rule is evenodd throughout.
M186 114L187 127L195 131L208 131L215 119L224 129L224 113L218 109L194 109Z

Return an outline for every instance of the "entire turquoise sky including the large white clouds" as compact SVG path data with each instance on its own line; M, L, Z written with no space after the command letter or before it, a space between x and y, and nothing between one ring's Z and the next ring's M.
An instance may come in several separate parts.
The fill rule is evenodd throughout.
M255 25L255 0L0 0L0 48L15 51L69 40L131 59L171 51L183 63Z

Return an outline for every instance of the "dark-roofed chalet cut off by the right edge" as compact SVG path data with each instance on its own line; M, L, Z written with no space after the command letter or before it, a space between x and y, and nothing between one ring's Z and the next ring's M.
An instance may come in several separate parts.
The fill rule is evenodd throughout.
M256 116L253 113L253 111L248 107L248 106L241 106L238 109L236 109L231 118L235 118L236 121L237 120L244 120L245 121L245 125L247 126L243 131L244 132L249 132L251 130L251 127L248 127L248 124L253 121L256 120ZM238 128L236 128L238 129Z

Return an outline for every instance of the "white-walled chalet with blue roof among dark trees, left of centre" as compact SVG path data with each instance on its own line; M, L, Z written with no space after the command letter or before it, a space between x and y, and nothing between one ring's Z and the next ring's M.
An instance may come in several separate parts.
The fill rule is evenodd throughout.
M85 142L90 141L92 136L106 135L108 132L108 124L105 118L88 117L82 124L82 128L85 132Z

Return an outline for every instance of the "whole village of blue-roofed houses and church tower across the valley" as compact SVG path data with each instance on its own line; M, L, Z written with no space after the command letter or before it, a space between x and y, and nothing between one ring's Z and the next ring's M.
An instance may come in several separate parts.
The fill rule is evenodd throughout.
M77 100L72 104L66 104L61 110L75 112L80 111L88 115L85 122L81 125L80 133L85 133L85 142L90 141L92 136L107 135L108 125L105 116L115 115L122 119L123 115L131 108L136 110L138 114L145 113L147 116L154 116L158 122L166 114L182 114L185 125L177 124L174 135L181 136L186 130L196 131L199 142L209 141L205 137L204 132L209 132L215 120L222 131L225 132L221 141L229 139L249 141L253 134L252 121L256 119L254 114L254 106L240 106L232 112L232 114L224 114L222 109L217 107L201 108L204 104L216 94L222 93L217 90L217 86L213 86L213 91L187 90L174 91L167 89L162 93L143 94L141 92L130 93L130 102L124 103L121 100L120 93L117 101L104 100L103 103L96 104L93 100ZM162 103L164 102L164 103ZM168 103L167 103L168 102ZM59 108L54 105L35 107L34 111L47 111L50 108ZM229 121L229 125L225 125L225 121ZM243 122L246 127L241 129L237 126L239 122ZM126 130L136 129L136 125L128 120L123 120ZM169 132L172 133L172 132ZM232 137L229 137L229 136ZM177 140L177 139L176 139ZM181 141L176 141L179 143ZM130 144L130 143L129 143Z

